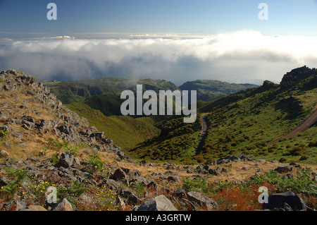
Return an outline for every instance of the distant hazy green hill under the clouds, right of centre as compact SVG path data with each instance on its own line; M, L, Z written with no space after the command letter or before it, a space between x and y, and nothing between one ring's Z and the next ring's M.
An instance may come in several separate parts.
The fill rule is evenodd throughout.
M259 87L251 84L234 84L218 80L194 80L180 85L180 90L197 90L197 100L210 102L247 88Z

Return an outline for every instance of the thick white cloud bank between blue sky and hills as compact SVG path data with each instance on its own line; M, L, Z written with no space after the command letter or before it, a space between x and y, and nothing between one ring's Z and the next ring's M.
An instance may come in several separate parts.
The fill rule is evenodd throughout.
M0 41L0 69L42 80L97 76L231 83L280 82L299 66L316 67L317 37L268 37L239 31L197 38L34 39Z

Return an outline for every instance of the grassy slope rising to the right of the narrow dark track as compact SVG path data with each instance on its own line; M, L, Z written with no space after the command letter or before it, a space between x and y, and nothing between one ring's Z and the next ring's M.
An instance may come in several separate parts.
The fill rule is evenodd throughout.
M292 84L259 87L205 104L201 111L211 111L211 126L204 145L204 158L210 161L244 152L281 162L298 162L302 158L302 162L316 164L317 147L309 145L317 141L316 126L291 140L266 145L296 128L317 104L316 71L303 72L300 78L296 76L299 73L301 69L285 76L285 79L293 78L290 79L294 80ZM285 100L291 96L302 105L301 114ZM302 147L302 150L294 153L295 147Z

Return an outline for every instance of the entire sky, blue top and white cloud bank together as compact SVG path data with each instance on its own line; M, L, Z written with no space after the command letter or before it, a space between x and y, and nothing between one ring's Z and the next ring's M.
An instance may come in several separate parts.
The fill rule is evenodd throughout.
M316 43L317 0L0 0L0 71L39 80L279 83L317 67Z

